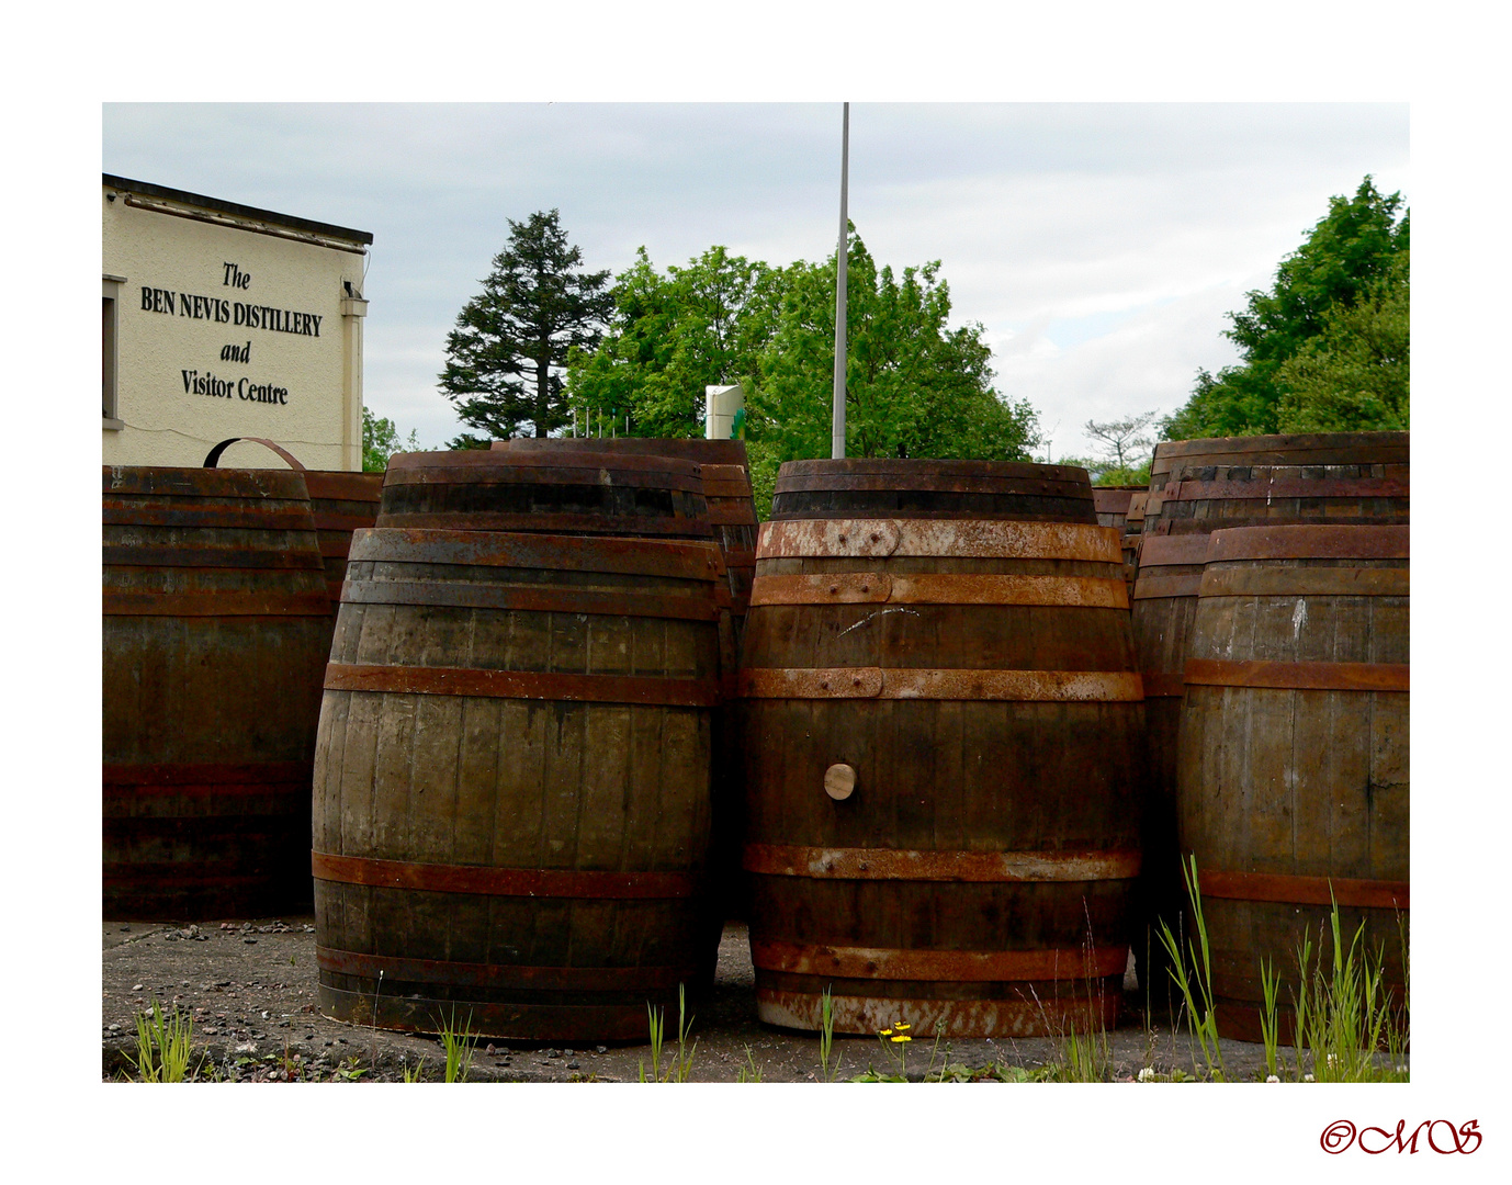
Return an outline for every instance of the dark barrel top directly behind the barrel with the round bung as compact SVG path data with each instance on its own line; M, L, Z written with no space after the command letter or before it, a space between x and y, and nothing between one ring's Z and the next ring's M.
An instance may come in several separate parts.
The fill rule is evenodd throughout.
M1098 521L1087 470L1075 466L857 458L777 470L771 521L845 517Z

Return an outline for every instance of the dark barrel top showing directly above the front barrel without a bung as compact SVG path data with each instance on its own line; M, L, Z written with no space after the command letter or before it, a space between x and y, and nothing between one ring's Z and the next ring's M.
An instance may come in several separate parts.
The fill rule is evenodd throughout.
M623 452L395 453L378 526L714 538L694 463Z

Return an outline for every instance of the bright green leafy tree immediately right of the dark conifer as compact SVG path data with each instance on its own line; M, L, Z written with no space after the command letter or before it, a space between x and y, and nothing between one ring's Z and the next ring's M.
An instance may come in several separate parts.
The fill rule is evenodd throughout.
M615 280L603 342L591 354L575 351L567 363L582 422L606 419L631 435L703 435L703 388L756 373L780 284L780 271L723 246L667 275L640 248Z

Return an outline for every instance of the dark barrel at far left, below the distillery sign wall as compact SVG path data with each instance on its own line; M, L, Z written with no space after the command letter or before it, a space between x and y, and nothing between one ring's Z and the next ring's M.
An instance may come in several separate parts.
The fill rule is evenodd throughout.
M304 478L103 478L104 916L307 907L331 621Z

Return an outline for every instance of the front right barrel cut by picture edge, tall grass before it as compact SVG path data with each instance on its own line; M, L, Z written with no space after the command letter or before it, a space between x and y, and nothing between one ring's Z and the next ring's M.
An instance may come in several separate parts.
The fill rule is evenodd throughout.
M1309 933L1329 964L1332 901L1344 942L1364 924L1405 999L1408 528L1210 540L1185 661L1181 846L1198 862L1219 1032L1261 1040L1264 958L1291 1040L1297 948Z

